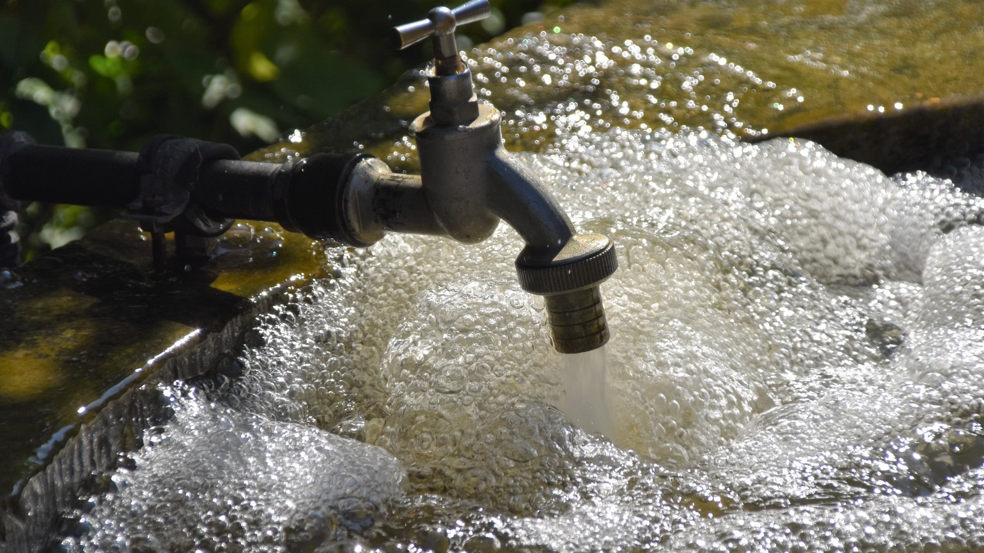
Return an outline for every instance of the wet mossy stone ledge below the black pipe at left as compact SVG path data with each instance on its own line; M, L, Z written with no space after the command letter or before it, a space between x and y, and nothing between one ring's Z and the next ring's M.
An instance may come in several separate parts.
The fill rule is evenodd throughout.
M15 271L0 288L5 493L92 417L87 405L122 392L114 387L135 371L130 380L141 382L181 349L168 351L174 344L193 347L257 297L324 273L324 250L310 239L266 223L244 228L252 239L220 241L203 267L156 273L147 236L117 219Z

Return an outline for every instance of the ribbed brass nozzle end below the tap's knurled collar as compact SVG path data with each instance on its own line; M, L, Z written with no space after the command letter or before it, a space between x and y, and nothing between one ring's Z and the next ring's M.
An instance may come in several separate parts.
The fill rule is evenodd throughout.
M608 341L608 323L599 286L549 295L544 300L557 351L584 353Z

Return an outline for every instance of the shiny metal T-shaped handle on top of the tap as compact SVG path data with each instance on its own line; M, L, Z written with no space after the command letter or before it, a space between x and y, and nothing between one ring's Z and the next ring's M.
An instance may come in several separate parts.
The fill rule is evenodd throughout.
M492 6L489 5L488 0L471 0L454 10L438 6L427 13L427 19L395 28L394 39L397 48L402 50L410 44L416 44L428 36L433 36L434 59L437 61L439 73L460 73L461 61L458 60L455 29L466 23L483 20L491 13Z

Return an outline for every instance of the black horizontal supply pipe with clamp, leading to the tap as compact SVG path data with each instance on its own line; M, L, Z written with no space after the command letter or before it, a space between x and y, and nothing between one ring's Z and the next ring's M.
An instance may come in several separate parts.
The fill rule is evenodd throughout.
M7 137L19 141L0 144L0 192L13 200L126 209L126 216L142 221L146 212L153 215L146 220L166 224L172 220L180 223L179 217L186 214L191 214L193 221L203 217L216 221L232 218L272 221L313 238L367 245L348 226L342 201L351 170L367 157L365 154L318 154L280 164L210 159L203 150L195 155L195 149L215 150L222 145L191 141L190 148L175 147L169 141L190 140L177 137L160 137L149 143L152 145L149 152L137 154L38 146L31 144L30 136L22 135ZM172 148L165 148L168 146ZM181 146L185 148L178 148ZM181 155L187 155L187 159ZM142 167L142 162L146 167ZM145 175L143 171L148 173ZM167 182L164 186L154 181L142 183L142 178L150 175ZM399 213L400 201L407 201L403 196L412 197L412 208L425 204L422 190L417 189L419 186L387 191L379 200L385 204L381 209L393 215L391 222L397 228L415 222L413 217ZM137 202L140 198L143 201ZM182 201L186 202L184 207ZM165 208L183 211L171 214ZM166 215L173 218L164 218ZM192 234L205 232L195 224L190 227L185 224L182 228Z

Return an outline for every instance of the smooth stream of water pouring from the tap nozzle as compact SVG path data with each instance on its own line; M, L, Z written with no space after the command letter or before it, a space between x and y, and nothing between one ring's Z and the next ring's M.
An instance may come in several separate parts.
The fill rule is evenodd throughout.
M611 409L608 406L608 366L605 348L564 356L560 409L585 432L600 432L614 437Z

